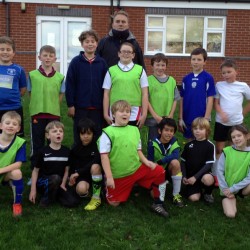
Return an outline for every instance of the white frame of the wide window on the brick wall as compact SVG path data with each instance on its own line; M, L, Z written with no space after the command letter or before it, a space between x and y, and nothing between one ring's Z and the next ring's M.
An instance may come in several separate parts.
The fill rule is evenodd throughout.
M157 17L157 18L163 18L163 26L154 26L149 27L148 21L150 17ZM184 39L183 39L183 53L167 53L166 52L166 24L167 24L167 17L183 17L184 18ZM185 44L186 44L186 20L188 17L198 17L198 18L204 18L204 27L203 27L203 48L207 49L207 35L209 33L219 33L222 34L221 37L221 51L216 52L208 52L209 56L213 57L222 57L225 55L225 42L226 42L226 17L225 16L185 16L185 15L146 15L145 18L145 44L144 44L144 54L145 55L154 55L157 52L164 53L169 56L190 56L189 53L185 53ZM208 19L221 19L223 21L222 28L208 28ZM148 48L148 32L149 31L158 31L163 33L163 39L162 39L162 50L157 51L149 51Z

